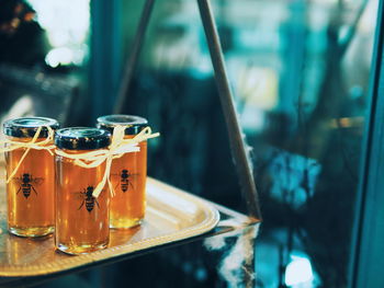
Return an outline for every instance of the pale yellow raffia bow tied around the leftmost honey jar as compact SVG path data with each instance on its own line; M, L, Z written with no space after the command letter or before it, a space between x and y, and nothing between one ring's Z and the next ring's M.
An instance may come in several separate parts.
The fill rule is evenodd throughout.
M43 128L46 128L48 130L48 135L44 140L37 141ZM0 148L0 152L9 152L16 149L25 149L18 165L13 169L12 173L8 175L7 183L9 183L13 178L13 176L18 173L21 163L24 161L25 157L29 154L31 149L47 150L53 155L54 154L53 150L56 148L56 146L53 145L54 136L55 136L55 131L53 128L50 128L49 126L41 126L37 128L31 141L22 142L22 141L14 141L11 139L5 139L0 141L0 146L2 147Z

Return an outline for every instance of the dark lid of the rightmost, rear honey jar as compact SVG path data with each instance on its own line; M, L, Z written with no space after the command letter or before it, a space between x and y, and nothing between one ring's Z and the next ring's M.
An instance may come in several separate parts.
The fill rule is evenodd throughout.
M116 125L126 126L125 135L139 134L148 126L146 118L134 115L106 115L98 118L98 127L113 133Z

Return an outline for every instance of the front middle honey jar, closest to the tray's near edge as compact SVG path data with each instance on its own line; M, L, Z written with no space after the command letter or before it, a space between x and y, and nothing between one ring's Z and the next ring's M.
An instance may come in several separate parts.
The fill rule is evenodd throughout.
M94 168L75 163L70 155L106 149L111 134L98 128L57 130L56 163L56 231L55 245L68 254L101 250L109 243L110 192L105 185L94 197L93 191L105 173L105 161ZM66 155L60 155L64 152ZM87 162L87 161L86 161Z

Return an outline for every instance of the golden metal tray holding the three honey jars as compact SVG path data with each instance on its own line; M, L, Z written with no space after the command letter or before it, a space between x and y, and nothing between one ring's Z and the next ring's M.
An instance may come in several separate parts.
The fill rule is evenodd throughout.
M53 237L25 239L9 234L4 193L0 203L0 277L42 276L118 258L203 234L219 220L218 211L208 201L148 178L147 215L140 227L112 230L108 249L69 256L54 250Z

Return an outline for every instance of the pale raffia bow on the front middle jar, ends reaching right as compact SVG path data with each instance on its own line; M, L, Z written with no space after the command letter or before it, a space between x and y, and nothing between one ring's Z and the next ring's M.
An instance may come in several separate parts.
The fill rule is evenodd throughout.
M114 196L114 189L110 181L111 165L114 159L123 157L125 153L137 152L140 150L138 143L150 138L160 136L159 133L151 133L150 127L144 128L139 134L131 139L125 139L126 126L117 125L113 128L111 145L108 149L90 151L79 154L66 153L63 150L56 150L56 154L75 160L75 164L86 169L92 169L105 162L105 172L102 181L93 189L92 196L99 197L108 183L110 193Z

